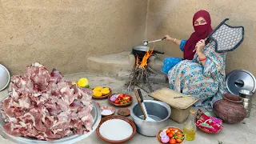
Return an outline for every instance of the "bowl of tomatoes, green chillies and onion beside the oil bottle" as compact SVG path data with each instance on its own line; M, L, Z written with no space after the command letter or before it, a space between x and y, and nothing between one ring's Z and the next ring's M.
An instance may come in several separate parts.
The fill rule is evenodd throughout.
M158 131L157 139L161 144L179 144L184 141L185 134L178 127L168 126Z

